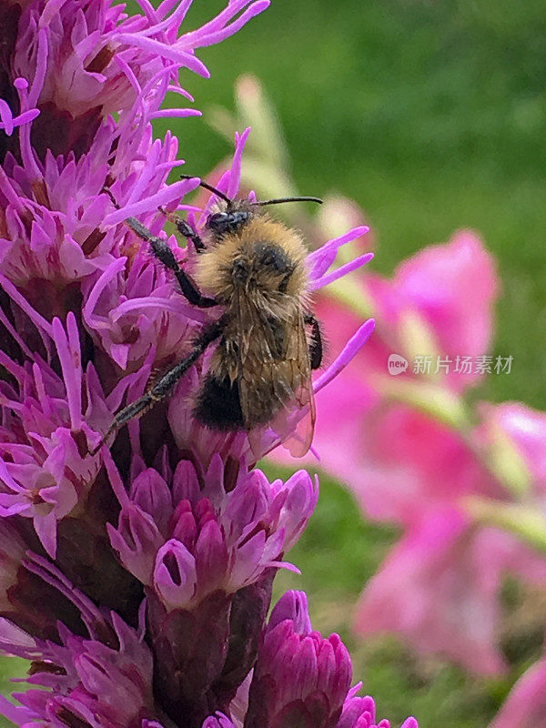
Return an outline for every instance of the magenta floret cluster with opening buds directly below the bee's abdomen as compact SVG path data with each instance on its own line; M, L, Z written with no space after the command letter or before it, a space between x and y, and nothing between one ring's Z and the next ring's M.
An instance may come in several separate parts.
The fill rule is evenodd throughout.
M108 525L112 545L168 611L197 608L213 591L234 593L281 566L319 495L305 470L285 484L241 466L238 480L227 483L216 456L200 477L187 460L168 483L157 470L142 470L127 497L115 466L107 467L121 504L117 530Z

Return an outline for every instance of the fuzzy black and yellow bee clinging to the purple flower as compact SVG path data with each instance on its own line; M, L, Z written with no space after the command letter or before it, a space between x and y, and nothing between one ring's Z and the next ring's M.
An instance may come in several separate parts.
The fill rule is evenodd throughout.
M322 200L283 197L252 202L229 199L202 180L199 184L219 200L207 217L203 238L183 218L169 216L197 251L192 277L165 240L153 236L135 217L128 217L126 225L173 271L190 304L217 306L222 313L197 335L187 357L116 414L94 451L119 427L165 398L216 344L193 404L196 420L210 430L247 431L249 438L253 430L269 426L293 455L303 456L313 437L311 370L321 364L322 339L309 308L304 242L296 230L269 217L263 207ZM290 417L293 410L305 410L305 417Z

